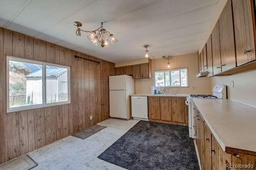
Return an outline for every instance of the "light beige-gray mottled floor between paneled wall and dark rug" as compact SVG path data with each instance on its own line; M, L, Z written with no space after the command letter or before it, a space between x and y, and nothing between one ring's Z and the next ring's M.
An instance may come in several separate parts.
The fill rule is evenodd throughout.
M79 139L73 136L42 147L28 155L38 166L33 170L119 170L124 169L110 164L97 156L112 145L138 120L107 119L98 123L105 129L88 137ZM16 165L15 168L19 168ZM22 167L20 167L22 169Z

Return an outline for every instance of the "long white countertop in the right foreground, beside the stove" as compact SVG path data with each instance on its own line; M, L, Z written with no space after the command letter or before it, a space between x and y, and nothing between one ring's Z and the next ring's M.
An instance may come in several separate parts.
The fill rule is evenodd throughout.
M228 99L193 98L218 143L256 152L256 108Z

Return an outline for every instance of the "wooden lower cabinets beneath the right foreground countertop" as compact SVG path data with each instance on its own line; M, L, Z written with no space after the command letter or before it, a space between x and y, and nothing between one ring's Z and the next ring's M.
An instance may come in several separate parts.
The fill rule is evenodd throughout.
M196 121L194 122L194 126L196 127L196 145L202 170L256 169L255 152L253 154L250 151L239 153L230 151L229 149L227 150L227 147L227 153L224 152L214 135L212 135L210 128L202 119L202 115L198 109L195 109L195 111ZM244 166L244 168L241 166ZM247 168L245 166L247 166Z

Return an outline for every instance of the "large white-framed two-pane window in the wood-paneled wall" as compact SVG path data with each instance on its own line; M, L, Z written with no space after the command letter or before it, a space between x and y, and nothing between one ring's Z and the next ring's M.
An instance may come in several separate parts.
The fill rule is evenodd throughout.
M70 67L7 57L7 112L70 103Z

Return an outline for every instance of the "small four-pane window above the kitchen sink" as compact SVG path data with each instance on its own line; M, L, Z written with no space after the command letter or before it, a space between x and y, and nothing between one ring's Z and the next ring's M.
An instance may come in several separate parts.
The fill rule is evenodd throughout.
M156 87L188 87L188 68L154 71Z

